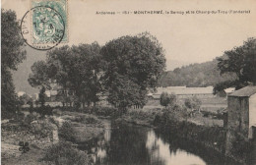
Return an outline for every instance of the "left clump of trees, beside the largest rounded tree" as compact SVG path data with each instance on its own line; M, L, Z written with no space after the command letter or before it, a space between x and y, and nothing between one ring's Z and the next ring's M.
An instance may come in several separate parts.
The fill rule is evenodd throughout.
M36 62L32 66L32 75L28 80L32 86L43 85L51 88L52 83L61 87L58 99L62 102L79 102L91 105L98 101L101 90L100 46L80 44L62 46L47 52L46 62Z

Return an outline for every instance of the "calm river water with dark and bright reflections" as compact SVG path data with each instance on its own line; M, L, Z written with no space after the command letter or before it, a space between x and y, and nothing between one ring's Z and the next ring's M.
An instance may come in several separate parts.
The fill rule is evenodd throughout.
M102 138L79 144L104 165L227 165L218 153L149 128L112 126Z

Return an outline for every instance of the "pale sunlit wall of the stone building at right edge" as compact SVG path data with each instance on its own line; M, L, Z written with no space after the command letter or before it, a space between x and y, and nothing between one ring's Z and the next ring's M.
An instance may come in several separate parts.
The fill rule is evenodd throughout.
M256 127L256 93L249 98L249 138L256 137L252 135L252 126Z

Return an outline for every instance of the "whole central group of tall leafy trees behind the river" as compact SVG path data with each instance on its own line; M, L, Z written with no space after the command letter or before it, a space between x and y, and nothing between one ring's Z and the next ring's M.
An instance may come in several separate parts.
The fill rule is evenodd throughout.
M57 83L62 102L90 106L99 93L105 93L111 104L125 109L146 103L146 94L157 86L164 67L159 41L144 32L113 39L102 47L94 42L50 50L46 61L32 65L28 81L47 89Z

